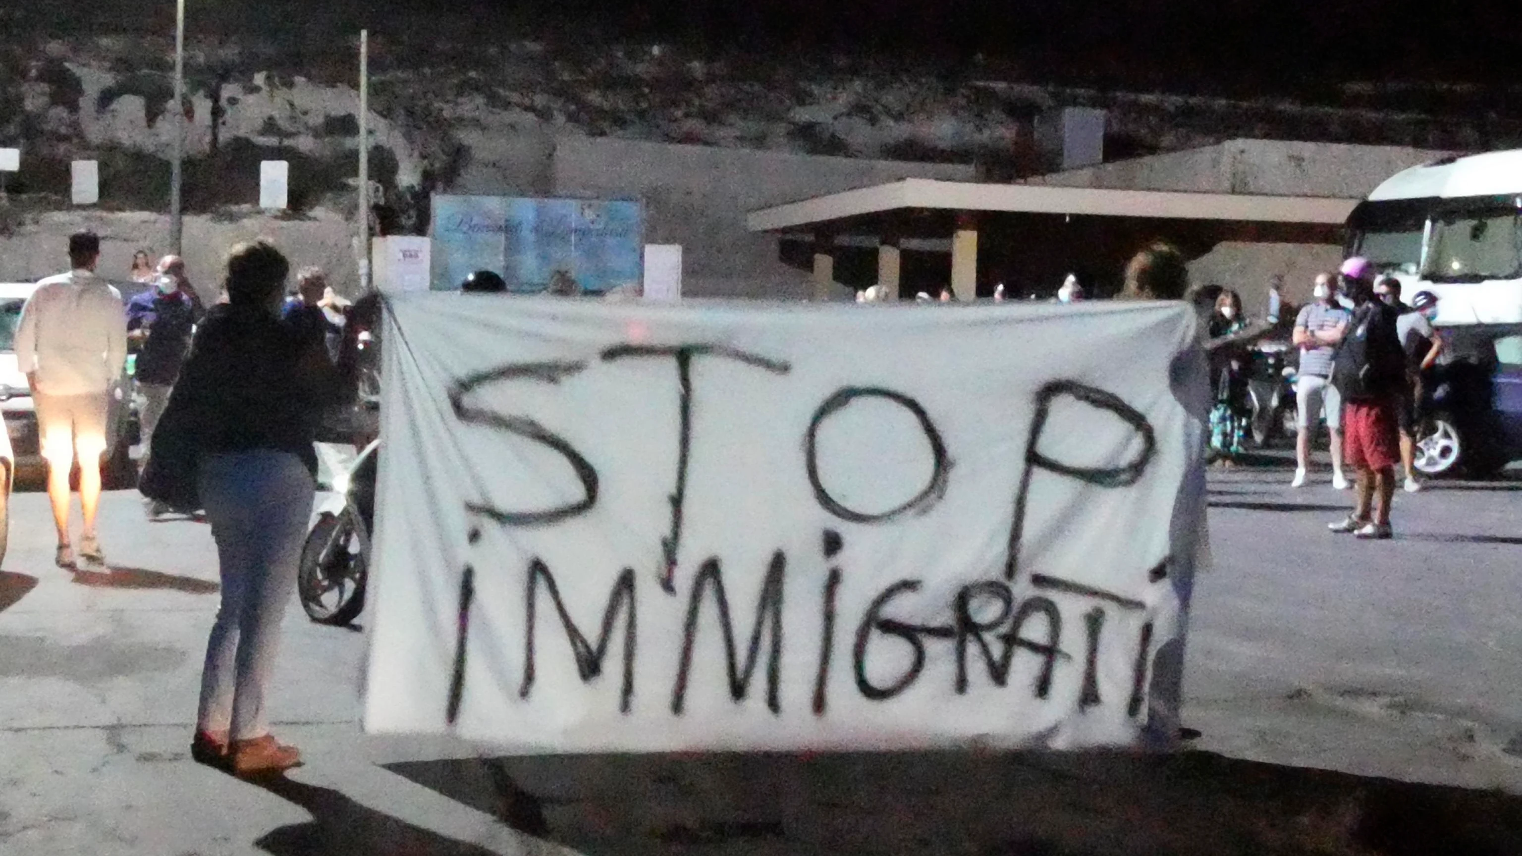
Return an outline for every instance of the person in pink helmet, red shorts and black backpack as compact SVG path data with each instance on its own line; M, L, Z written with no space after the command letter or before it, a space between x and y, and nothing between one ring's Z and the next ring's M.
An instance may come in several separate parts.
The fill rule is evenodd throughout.
M1397 402L1406 382L1405 355L1396 332L1396 311L1374 297L1367 279L1344 277L1353 318L1336 349L1333 381L1342 394L1347 465L1356 471L1353 513L1330 524L1362 539L1388 539L1390 504L1400 460Z

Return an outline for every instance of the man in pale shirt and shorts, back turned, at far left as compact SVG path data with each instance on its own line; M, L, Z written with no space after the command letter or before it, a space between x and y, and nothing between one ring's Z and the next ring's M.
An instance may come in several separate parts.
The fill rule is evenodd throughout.
M107 410L126 363L126 308L117 289L96 276L99 257L100 239L94 233L68 236L73 270L37 283L15 331L17 367L32 387L47 460L47 498L58 525L56 562L61 568L75 567L68 538L68 471L78 452L84 510L79 556L105 570L96 509Z

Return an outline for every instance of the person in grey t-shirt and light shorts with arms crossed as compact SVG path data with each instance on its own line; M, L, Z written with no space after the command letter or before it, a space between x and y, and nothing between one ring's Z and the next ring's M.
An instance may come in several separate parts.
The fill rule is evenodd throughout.
M1352 314L1338 305L1338 280L1335 274L1317 276L1312 291L1315 303L1300 309L1295 317L1295 332L1291 341L1300 349L1300 369L1295 379L1295 480L1292 487L1306 484L1310 466L1310 431L1324 411L1327 430L1332 434L1332 486L1347 489L1342 475L1342 396L1332 385L1332 358L1336 344L1342 341Z

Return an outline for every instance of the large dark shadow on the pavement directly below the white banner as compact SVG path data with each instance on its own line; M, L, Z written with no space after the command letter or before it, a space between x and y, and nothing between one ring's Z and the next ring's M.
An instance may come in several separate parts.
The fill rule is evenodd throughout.
M683 845L758 856L1522 853L1522 797L1196 751L562 755L387 769L502 819L510 769L513 791L556 806L548 838L587 856Z

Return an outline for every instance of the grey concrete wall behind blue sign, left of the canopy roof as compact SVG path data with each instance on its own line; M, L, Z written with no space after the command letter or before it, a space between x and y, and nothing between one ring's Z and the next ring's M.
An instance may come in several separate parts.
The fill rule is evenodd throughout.
M776 236L747 232L746 212L900 178L971 181L974 168L591 137L554 152L557 195L644 200L645 241L682 244L693 297L807 297L808 271L782 265Z

